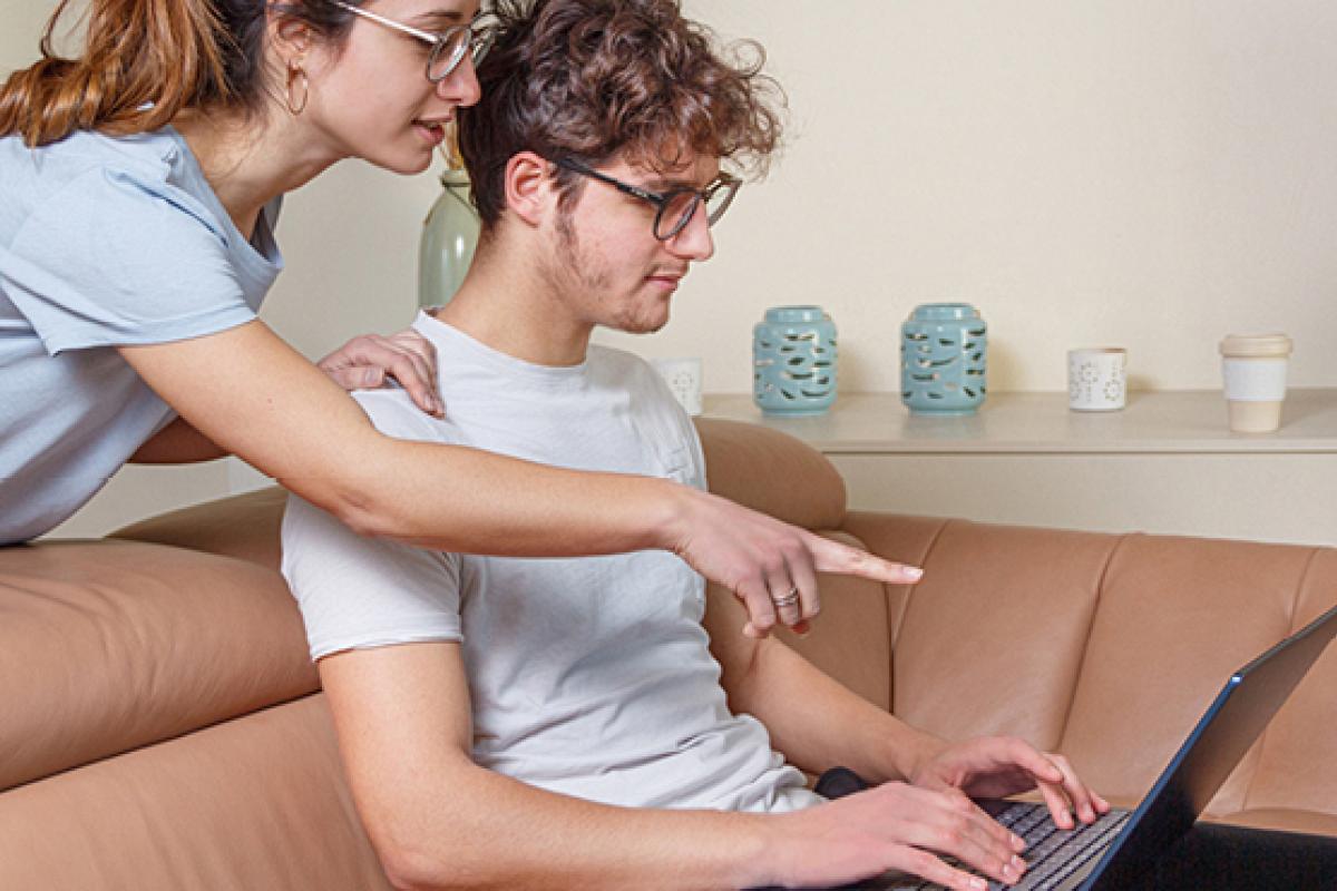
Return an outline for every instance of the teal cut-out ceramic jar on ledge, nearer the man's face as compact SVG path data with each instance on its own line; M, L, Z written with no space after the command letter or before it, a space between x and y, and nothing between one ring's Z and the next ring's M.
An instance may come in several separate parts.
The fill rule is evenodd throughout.
M820 414L836 401L836 323L820 306L775 306L753 327L753 401Z

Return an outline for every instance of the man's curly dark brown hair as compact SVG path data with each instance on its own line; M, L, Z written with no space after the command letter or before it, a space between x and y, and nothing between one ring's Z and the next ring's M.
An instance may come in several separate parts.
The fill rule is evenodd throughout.
M762 175L779 146L785 95L755 41L717 49L678 0L496 0L483 99L460 110L460 152L491 228L505 166L521 151L598 166L615 155L658 171L691 155ZM579 182L556 171L563 204Z

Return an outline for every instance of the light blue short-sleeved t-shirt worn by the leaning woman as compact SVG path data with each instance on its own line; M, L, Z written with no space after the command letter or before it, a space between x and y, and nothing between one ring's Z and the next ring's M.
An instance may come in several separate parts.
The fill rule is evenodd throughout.
M170 127L0 139L0 545L70 517L175 418L114 347L254 319L277 212L247 242Z

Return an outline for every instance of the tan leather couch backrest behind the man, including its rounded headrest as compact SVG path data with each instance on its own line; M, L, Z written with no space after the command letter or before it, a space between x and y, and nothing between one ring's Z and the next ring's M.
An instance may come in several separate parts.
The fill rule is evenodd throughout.
M1225 677L1337 602L1337 552L846 513L845 486L793 437L699 419L711 490L923 565L915 588L824 577L806 640L829 673L951 739L1012 733L1136 800ZM279 490L123 534L277 562ZM1213 801L1337 815L1337 649ZM1337 822L1332 827L1337 830Z

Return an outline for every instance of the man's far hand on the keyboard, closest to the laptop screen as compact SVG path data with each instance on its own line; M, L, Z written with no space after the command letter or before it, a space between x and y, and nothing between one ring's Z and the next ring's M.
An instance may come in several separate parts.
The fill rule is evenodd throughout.
M957 788L977 799L1000 799L1039 788L1055 824L1071 830L1074 814L1094 823L1110 810L1076 775L1066 757L1042 753L1025 740L985 736L944 745L910 775L928 789Z

